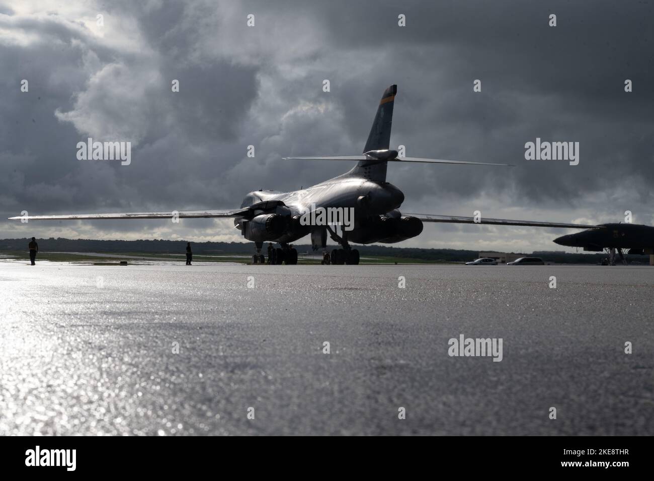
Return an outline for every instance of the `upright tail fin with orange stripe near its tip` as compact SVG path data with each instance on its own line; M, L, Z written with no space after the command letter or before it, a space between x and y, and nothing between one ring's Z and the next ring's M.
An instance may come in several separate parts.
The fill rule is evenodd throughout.
M398 86L391 85L384 91L383 96L381 96L379 107L377 107L377 114L375 115L375 120L372 122L366 147L364 147L364 153L368 151L388 150L388 146L390 145L390 126L393 120L393 103L397 93ZM361 175L373 181L385 182L386 167L387 162L385 160L361 160L350 173Z

